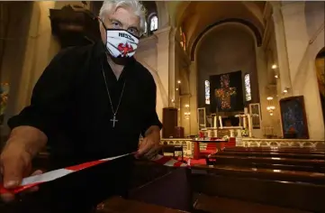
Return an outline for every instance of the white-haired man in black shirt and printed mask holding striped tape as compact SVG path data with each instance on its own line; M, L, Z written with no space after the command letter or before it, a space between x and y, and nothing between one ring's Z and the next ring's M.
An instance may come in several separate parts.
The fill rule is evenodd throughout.
M156 84L133 58L145 28L136 0L108 0L99 14L102 41L59 52L32 93L32 104L8 121L1 154L5 188L31 174L32 158L50 145L50 169L132 153L158 153L161 123ZM144 141L138 147L140 134ZM126 195L133 156L44 184L33 196L50 212L89 212L110 195ZM5 194L2 199L12 200Z

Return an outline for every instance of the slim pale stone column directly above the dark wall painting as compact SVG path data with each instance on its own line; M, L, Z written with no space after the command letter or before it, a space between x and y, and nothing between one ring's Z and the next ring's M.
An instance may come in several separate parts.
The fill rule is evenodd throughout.
M281 93L284 91L284 88L292 88L291 80L290 80L290 68L288 62L288 53L286 49L286 38L284 32L284 19L281 12L281 7L279 5L275 5L273 7L273 20L275 23L275 43L276 43L276 51L277 51L277 66L279 72L279 82ZM284 95L290 95L290 93ZM279 94L279 95L280 95Z

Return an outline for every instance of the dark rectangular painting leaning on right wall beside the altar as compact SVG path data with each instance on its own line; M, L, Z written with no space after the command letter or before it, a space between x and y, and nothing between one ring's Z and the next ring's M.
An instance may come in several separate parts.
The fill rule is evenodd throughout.
M303 96L280 100L284 138L308 139L308 124Z

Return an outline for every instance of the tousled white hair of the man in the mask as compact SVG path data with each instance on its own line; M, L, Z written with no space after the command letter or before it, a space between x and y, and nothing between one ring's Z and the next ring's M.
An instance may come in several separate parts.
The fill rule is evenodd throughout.
M146 8L138 0L106 0L99 11L99 17L104 20L105 15L115 12L120 7L131 8L140 18L141 33L146 31Z

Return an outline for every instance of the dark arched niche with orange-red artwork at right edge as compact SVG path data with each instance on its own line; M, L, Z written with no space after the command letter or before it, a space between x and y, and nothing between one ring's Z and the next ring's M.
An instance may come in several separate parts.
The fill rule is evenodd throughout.
M325 47L317 54L315 59L316 77L320 90L320 103L322 109L322 117L325 123Z

